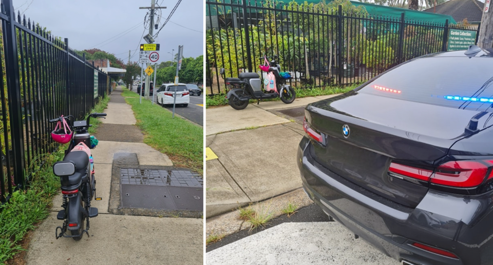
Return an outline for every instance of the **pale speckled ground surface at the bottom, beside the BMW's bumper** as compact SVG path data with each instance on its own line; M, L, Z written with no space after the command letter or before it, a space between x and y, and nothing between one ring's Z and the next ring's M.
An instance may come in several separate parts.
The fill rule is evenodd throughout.
M207 252L206 264L396 265L337 222L286 222Z

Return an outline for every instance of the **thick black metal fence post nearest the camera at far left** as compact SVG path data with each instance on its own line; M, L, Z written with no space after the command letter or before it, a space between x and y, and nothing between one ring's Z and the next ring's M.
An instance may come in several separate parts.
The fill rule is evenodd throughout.
M25 187L24 132L22 129L21 84L19 62L17 57L17 36L15 33L15 14L11 0L4 0L5 13L9 20L3 24L5 70L7 77L7 93L10 116L10 138L12 144L14 181L18 189ZM8 147L8 144L6 145ZM9 152L5 148L5 153Z

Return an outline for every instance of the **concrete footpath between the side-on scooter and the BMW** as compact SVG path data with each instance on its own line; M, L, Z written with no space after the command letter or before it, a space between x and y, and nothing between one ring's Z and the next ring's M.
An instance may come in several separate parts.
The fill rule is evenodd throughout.
M244 110L207 109L205 145L218 158L206 160L206 217L299 189L295 159L304 131L298 120L274 113L302 110L333 96L298 98L292 104L267 101Z

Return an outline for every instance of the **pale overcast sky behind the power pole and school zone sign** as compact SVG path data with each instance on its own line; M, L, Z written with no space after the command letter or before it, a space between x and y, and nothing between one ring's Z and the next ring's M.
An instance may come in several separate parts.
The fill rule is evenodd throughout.
M161 28L178 0L156 1L158 5L167 7L161 10L162 17L159 23ZM55 36L68 38L72 49L98 48L115 54L127 63L128 50L132 51L132 55L140 43L145 43L141 36L144 31L144 17L148 10L139 7L150 7L150 2L150 0L13 0L13 5L15 13L17 10L21 13L25 10L26 18L30 17L31 21L34 19L42 27L51 30ZM159 14L159 11L157 13ZM176 53L179 45L183 45L185 57L197 57L203 54L203 14L203 1L182 0L156 38L156 43L161 45L158 62L170 60L172 55L168 52L171 53L172 49L175 49ZM156 32L157 30L154 30L154 33ZM125 35L118 35L120 33ZM148 29L145 30L145 34L147 33ZM110 39L113 36L116 37ZM105 40L108 42L102 43ZM114 41L110 42L111 40ZM138 59L139 50L130 60Z

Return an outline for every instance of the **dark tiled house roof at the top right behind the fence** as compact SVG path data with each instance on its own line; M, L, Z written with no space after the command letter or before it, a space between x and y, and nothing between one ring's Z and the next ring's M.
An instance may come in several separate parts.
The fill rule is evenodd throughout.
M468 23L479 23L483 15L484 3L478 0L450 0L434 7L435 13L451 15L457 22L467 18ZM433 7L423 10L433 13Z

